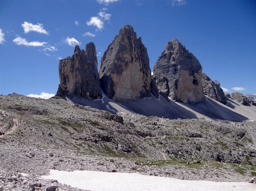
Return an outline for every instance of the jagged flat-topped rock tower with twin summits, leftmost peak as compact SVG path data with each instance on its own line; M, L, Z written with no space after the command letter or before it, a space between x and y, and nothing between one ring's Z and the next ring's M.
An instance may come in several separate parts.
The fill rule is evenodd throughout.
M82 51L76 45L72 57L60 60L59 76L57 96L80 95L88 100L102 98L94 43L87 44Z

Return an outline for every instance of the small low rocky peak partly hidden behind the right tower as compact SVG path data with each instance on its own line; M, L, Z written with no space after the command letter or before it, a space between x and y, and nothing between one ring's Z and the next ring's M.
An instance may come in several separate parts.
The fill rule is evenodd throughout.
M212 81L205 73L202 73L202 85L205 95L226 105L227 99L220 88L219 81Z

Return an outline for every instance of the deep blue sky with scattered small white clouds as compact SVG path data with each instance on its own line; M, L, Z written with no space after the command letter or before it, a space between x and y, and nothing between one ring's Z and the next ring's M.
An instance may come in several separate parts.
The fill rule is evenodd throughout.
M255 0L0 0L0 94L55 94L59 59L94 42L99 66L125 24L152 71L176 38L226 91L256 94Z

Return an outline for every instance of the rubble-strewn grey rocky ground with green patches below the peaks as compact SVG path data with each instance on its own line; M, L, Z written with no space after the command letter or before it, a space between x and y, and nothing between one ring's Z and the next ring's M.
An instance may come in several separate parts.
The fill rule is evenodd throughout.
M10 133L0 136L0 191L79 190L40 179L49 169L212 181L256 176L256 122L115 115L15 93L0 96L0 110L0 131Z

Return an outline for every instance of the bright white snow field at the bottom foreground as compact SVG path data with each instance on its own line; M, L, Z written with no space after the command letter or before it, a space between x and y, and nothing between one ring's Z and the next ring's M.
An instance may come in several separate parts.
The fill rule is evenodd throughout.
M256 191L256 184L248 182L179 180L137 173L86 170L50 170L50 175L43 176L43 179L54 179L72 187L91 191Z

